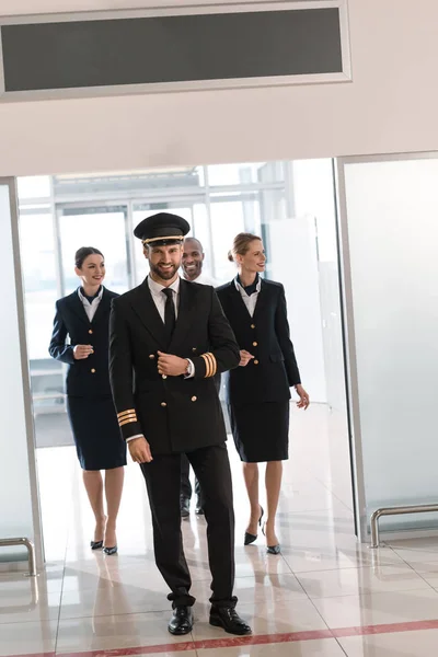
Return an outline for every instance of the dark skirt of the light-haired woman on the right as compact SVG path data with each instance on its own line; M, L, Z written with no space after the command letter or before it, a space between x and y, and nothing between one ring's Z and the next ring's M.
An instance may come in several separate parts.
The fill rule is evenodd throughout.
M264 463L289 458L289 401L229 404L228 412L241 461Z

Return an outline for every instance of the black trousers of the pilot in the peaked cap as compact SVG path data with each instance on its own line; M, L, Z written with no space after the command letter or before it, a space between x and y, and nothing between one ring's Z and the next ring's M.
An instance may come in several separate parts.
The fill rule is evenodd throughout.
M187 453L203 491L207 520L208 562L212 576L210 602L234 607L234 510L230 463L224 443ZM158 454L141 463L152 512L155 564L166 581L172 607L192 606L192 578L183 550L180 486L181 454Z

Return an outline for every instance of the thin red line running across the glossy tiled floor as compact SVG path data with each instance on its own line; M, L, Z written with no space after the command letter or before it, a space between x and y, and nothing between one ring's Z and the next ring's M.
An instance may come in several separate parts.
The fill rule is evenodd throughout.
M1 627L1 625L0 625ZM406 623L387 623L381 625L358 625L356 627L337 627L333 630L307 630L283 634L253 634L251 636L227 636L223 638L204 638L183 643L158 644L132 648L113 648L101 650L84 650L77 653L33 653L27 655L8 655L5 657L134 657L135 655L151 655L160 653L184 653L187 650L208 650L212 648L233 648L250 645L266 645L277 643L296 643L343 636L369 636L371 634L397 634L418 630L438 630L438 619L429 621L410 621Z

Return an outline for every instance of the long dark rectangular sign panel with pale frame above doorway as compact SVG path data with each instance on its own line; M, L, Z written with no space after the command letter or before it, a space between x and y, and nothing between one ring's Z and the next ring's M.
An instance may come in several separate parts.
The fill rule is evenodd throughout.
M312 7L312 5L316 7ZM327 4L328 7L322 7ZM276 10L115 12L0 25L3 95L61 90L211 89L348 78L343 2ZM272 5L273 7L273 5ZM237 5L239 8L239 5ZM180 12L184 9L180 8ZM345 21L344 21L345 23ZM176 87L175 87L176 85ZM165 89L164 89L165 88Z

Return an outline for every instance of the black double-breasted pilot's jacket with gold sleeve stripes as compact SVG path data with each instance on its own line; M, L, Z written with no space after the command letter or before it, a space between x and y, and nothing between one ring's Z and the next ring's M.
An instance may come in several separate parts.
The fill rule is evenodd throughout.
M158 372L158 351L188 358L193 378ZM209 354L209 356L203 356ZM181 279L170 344L148 279L113 302L110 379L123 437L143 434L152 456L227 438L214 374L239 364L239 347L212 287Z

